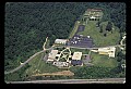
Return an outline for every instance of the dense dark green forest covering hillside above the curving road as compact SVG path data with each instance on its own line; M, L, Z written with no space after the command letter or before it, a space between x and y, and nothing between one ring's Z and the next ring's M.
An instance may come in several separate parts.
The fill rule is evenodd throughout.
M87 9L103 9L103 21L126 31L126 3L115 2L7 2L4 14L4 69L13 69L43 50L46 37L68 38Z

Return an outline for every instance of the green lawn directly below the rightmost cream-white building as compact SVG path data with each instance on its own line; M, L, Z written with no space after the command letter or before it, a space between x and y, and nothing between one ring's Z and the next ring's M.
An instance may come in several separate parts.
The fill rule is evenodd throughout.
M91 58L94 66L103 66L103 67L117 66L117 60L112 58L108 58L108 55L102 55L102 54L92 52Z

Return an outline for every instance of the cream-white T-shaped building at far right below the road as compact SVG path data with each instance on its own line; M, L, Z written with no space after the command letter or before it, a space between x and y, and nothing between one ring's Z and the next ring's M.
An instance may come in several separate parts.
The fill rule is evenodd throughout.
M115 52L116 52L116 48L111 47L111 48L99 48L98 49L98 53L99 54L106 54L109 55L109 58L115 58Z

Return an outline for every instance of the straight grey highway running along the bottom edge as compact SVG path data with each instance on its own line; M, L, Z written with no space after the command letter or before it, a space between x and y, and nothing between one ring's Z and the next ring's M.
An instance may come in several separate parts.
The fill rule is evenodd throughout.
M5 81L7 84L124 84L126 78Z

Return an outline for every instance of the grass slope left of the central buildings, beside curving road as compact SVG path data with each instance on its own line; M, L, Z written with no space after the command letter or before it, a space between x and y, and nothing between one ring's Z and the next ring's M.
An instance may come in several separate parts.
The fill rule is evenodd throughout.
M45 61L43 61L43 55L44 53L40 53L28 63L29 67L25 72L27 75L35 75L38 73L53 73L60 71L52 64L47 64Z

